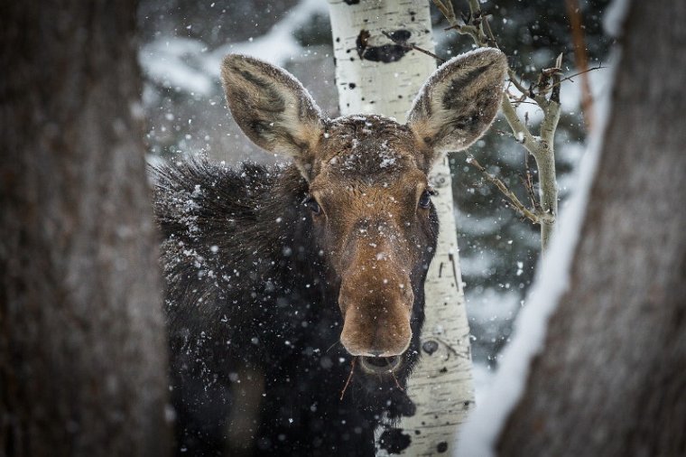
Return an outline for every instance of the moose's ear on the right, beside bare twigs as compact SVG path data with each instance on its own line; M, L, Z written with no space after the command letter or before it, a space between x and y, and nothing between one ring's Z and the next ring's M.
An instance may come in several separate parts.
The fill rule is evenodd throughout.
M459 55L426 81L407 115L420 144L436 153L471 145L493 122L503 94L507 61L495 48Z

